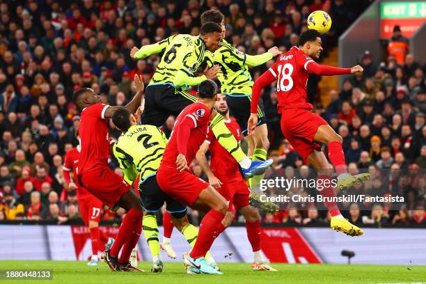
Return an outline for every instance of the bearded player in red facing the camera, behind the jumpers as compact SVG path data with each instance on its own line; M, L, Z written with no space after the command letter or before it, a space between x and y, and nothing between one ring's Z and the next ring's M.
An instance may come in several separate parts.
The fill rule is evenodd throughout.
M226 127L232 132L235 139L240 141L241 129L235 118L229 116L228 104L225 99L226 95L218 94L215 109L223 116ZM212 157L210 167L205 157L209 149ZM210 133L207 134L207 138L198 150L196 158L209 178L209 183L228 201L224 226L228 227L232 223L233 207L239 210L246 219L248 242L253 248L254 256L251 268L257 271L276 271L266 262L260 250L260 215L258 210L250 205L250 190L239 172L238 163Z

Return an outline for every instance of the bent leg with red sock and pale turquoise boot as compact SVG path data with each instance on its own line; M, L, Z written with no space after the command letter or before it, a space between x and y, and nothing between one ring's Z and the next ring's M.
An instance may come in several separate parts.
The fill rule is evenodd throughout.
M194 202L195 207L210 207L200 223L200 230L194 248L185 256L185 262L189 262L192 273L222 274L212 268L204 256L212 246L214 239L225 230L223 219L228 208L225 198L212 186L203 189Z

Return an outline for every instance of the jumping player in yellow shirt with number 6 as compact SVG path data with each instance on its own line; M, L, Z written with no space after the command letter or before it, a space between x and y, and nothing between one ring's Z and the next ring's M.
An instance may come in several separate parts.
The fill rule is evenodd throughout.
M130 57L134 59L164 52L150 84L146 87L141 124L161 127L168 116L178 116L182 109L196 102L197 97L187 93L187 90L205 79L217 77L219 66L213 66L199 77L194 77L194 74L205 60L206 51L214 52L219 48L221 40L221 27L214 22L206 22L200 28L200 36L180 34L145 45L141 49L132 48ZM212 120L211 129L214 136L221 136L219 142L239 162L246 177L263 173L259 168L262 168L264 161L248 159L221 116Z

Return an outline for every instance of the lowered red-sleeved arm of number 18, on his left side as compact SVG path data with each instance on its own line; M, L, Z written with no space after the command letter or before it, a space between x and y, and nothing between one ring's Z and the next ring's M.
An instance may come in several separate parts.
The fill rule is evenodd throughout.
M274 70L267 70L267 72L263 73L253 85L252 95L251 95L251 103L250 103L250 118L248 118L247 129L248 134L251 134L255 127L258 125L258 104L260 100L260 94L262 94L263 88L271 84L276 80L274 76Z

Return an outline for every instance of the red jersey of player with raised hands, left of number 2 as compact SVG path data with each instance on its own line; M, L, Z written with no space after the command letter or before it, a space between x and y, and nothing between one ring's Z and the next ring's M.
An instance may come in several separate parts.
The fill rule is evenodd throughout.
M104 113L109 105L93 104L81 111L79 173L96 166L108 166L109 133Z

